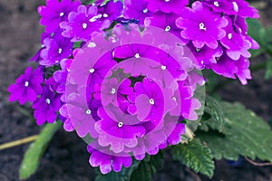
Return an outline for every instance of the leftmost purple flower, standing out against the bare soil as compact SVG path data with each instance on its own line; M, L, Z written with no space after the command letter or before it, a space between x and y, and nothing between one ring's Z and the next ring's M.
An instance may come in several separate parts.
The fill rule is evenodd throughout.
M10 85L7 89L11 93L9 100L19 100L20 104L24 104L27 100L34 102L43 92L41 85L43 81L44 77L41 68L34 71L32 71L31 67L26 68L24 74L20 75L15 84Z

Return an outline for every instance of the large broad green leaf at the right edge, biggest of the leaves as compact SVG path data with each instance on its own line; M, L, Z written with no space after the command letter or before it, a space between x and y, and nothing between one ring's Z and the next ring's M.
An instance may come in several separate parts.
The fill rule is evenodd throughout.
M272 161L272 131L267 123L239 103L221 103L225 115L224 134L197 131L196 136L217 159L237 160L239 155Z

